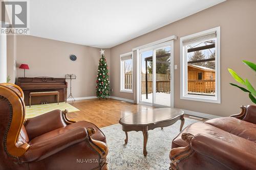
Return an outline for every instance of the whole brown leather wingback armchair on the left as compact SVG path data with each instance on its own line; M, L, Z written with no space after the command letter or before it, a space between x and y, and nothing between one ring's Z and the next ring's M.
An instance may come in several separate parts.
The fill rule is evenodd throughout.
M0 169L107 169L106 138L94 124L67 111L25 114L22 89L0 84Z

